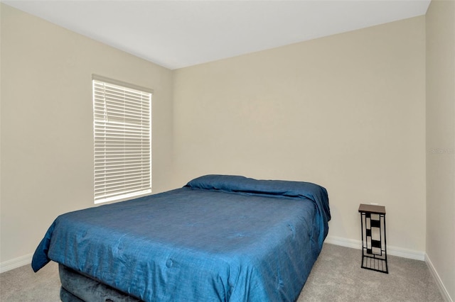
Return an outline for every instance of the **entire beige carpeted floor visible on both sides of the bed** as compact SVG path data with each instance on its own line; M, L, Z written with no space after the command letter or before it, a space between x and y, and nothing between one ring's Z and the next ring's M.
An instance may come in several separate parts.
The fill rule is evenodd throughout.
M361 251L324 244L298 302L304 301L444 301L427 264L389 257L389 274L360 268ZM38 273L30 266L0 274L0 301L60 301L58 266Z

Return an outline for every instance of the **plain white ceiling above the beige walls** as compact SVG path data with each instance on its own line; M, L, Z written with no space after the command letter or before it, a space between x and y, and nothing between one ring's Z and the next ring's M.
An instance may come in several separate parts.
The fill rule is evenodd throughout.
M177 69L424 15L430 0L2 2Z

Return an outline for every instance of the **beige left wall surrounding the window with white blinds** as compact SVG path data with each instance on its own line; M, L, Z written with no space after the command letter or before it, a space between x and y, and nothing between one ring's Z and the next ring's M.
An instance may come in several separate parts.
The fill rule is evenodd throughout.
M92 73L154 89L154 192L171 189L172 72L1 4L1 259L93 204Z

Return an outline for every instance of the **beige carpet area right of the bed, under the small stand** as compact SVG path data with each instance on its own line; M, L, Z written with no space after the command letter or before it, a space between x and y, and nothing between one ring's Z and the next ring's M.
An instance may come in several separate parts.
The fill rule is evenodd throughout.
M444 301L425 262L389 256L384 274L360 268L361 257L325 244L298 301Z

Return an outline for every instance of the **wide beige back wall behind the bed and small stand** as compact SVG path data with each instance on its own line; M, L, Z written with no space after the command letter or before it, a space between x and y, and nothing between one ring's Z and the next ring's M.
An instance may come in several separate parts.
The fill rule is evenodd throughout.
M176 70L176 181L312 181L329 236L360 240L359 203L387 243L425 250L424 16Z

